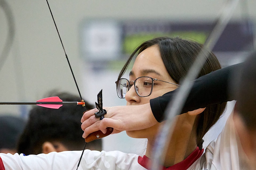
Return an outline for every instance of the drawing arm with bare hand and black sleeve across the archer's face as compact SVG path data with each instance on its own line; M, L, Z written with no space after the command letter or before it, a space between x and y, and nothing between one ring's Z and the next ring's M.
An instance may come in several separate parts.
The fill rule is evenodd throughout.
M229 78L241 66L242 63L225 67L194 80L194 85L182 109L182 113L235 100L234 96L229 95ZM84 130L83 138L97 130L106 133L107 127L114 128L114 133L118 133L123 130L149 128L157 124L157 122L163 121L165 108L178 90L179 88L163 96L151 99L150 104L104 107L107 114L101 121L98 121L99 118L94 116L94 113L97 112L96 109L86 112L81 119L81 128Z

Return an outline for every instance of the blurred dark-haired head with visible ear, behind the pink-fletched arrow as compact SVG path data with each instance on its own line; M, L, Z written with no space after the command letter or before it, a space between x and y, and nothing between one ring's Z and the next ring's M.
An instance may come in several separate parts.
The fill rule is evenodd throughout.
M81 101L79 96L67 92L51 92L49 96L58 96L63 101ZM85 101L86 109L94 108ZM29 112L29 119L19 139L18 153L25 155L83 150L81 117L84 109L81 105L63 105L59 109L35 106ZM102 140L87 143L86 149L102 150Z

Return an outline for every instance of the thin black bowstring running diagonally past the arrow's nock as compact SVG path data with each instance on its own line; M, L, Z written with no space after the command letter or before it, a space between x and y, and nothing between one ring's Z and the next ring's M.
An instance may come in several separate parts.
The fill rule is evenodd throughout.
M69 62L69 58L67 57L67 53L66 53L65 48L64 48L64 45L63 45L63 43L62 43L61 36L60 36L60 34L59 34L59 30L58 30L58 28L57 28L57 25L56 25L56 23L55 23L55 20L54 20L54 17L53 17L53 13L51 12L51 8L50 8L50 5L49 5L49 3L48 3L48 0L46 0L46 2L47 2L47 5L48 5L48 7L49 7L49 10L50 10L51 17L53 18L53 22L54 22L55 28L56 28L56 30L57 30L57 32L58 32L59 40L61 41L61 45L62 45L62 48L63 48L63 50L64 50L64 53L65 53L67 62L68 62L68 64L69 64L70 71L71 71L71 73L72 73L72 75L73 75L73 79L74 79L74 81L75 81L75 85L77 86L77 90L78 90L79 96L80 96L80 98L81 98L81 102L84 102L84 100L82 99L82 96L81 96L79 87L78 87L78 85L77 85L77 81L75 80L75 75L74 75L73 70L72 70L72 68L71 68L71 65L70 65L70 62ZM86 111L87 109L86 109L85 104L83 104L82 106L83 106L83 108L84 108L85 111ZM83 156L83 152L85 151L86 144L87 144L87 142L85 142L85 146L83 147L83 151L82 151L82 154L81 154L81 156L80 156L80 159L79 159L79 162L78 162L78 165L77 165L77 169L78 169L78 167L79 167L79 165L80 165L80 162L81 162L81 159L82 159L82 156Z

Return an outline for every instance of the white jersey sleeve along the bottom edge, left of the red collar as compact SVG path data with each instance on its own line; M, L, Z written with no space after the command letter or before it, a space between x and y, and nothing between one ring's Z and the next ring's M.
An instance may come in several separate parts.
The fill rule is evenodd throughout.
M19 169L76 169L82 151L51 152L49 154L28 155L0 154L5 170ZM0 160L1 164L1 160ZM146 170L138 163L138 155L126 154L120 151L91 151L85 150L78 169L138 169ZM0 165L0 170L1 165Z

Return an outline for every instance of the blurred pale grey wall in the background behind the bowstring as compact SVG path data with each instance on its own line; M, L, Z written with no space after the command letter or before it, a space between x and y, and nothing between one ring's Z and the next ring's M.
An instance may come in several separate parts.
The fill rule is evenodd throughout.
M11 0L7 3L14 15L15 39L0 70L0 101L35 101L54 88L78 94L46 1ZM96 95L99 90L104 89L104 84L110 82L106 76L97 77L98 75L91 73L86 68L86 62L81 61L79 25L84 19L214 21L225 3L224 0L49 0L78 86L90 103L97 100ZM243 17L248 17L256 22L255 7L255 0L241 1L232 19L242 20ZM0 52L2 52L8 30L6 15L2 8L0 8L0 18ZM111 83L114 83L118 71L109 74ZM101 78L103 82L98 82L95 78ZM97 88L93 83L99 84ZM103 104L105 106L125 104L125 101L117 102L115 87L113 88L103 90ZM108 100L109 98L113 100ZM18 105L0 105L1 113L21 114ZM143 147L143 141L141 143ZM124 151L130 152L129 148Z

